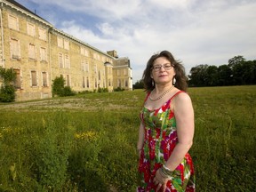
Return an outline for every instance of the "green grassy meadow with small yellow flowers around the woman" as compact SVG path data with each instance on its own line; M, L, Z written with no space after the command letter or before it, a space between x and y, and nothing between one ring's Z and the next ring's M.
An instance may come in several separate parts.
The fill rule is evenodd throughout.
M189 88L196 190L256 188L256 85ZM135 191L145 92L0 104L0 191Z

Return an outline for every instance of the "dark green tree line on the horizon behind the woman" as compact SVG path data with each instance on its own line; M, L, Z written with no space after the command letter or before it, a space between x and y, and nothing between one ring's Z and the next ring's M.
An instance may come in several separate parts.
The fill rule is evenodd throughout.
M228 64L219 67L200 64L189 71L188 86L228 86L256 84L256 60L245 60L243 56L235 56ZM133 89L142 89L143 81L133 84Z

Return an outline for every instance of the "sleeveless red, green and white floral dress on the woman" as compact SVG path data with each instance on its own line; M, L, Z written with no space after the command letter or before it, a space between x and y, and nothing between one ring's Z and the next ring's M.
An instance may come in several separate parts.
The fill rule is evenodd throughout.
M153 182L156 171L172 155L173 148L178 142L176 120L170 104L180 92L173 95L161 108L149 110L143 107L141 109L140 119L144 124L145 135L139 161L137 192L156 191L157 186ZM149 94L150 92L148 96ZM146 100L148 100L148 96ZM171 180L167 182L165 192L175 191L195 191L194 166L188 153L172 173Z

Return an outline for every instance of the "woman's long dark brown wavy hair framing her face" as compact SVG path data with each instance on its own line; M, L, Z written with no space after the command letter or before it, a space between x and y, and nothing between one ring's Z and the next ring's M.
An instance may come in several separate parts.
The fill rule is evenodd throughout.
M172 56L172 53L168 51L156 53L152 55L151 58L148 60L147 67L145 68L142 76L145 91L151 92L155 88L155 84L152 84L153 79L151 78L151 73L154 61L159 57L164 57L171 62L172 67L174 68L176 73L176 75L174 76L176 79L176 83L174 84L174 86L186 92L188 88L188 77L186 76L185 68L183 67L181 62L179 60L175 60Z

